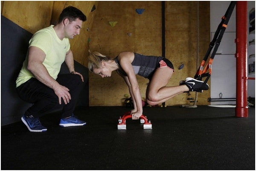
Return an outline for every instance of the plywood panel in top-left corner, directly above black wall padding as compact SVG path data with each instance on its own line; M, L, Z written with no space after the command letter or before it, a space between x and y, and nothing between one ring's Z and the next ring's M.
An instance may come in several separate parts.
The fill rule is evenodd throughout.
M54 1L4 1L2 15L34 34L50 25Z

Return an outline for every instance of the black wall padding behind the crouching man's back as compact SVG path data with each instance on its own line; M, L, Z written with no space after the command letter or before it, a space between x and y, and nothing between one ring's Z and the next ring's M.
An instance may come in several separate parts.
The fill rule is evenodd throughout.
M20 120L19 112L31 106L15 89L31 37L30 32L1 15L1 125Z

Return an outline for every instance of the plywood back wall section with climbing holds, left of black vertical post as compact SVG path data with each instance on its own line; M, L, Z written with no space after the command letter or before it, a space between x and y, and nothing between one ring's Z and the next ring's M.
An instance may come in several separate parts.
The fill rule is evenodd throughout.
M145 9L137 14L135 9ZM108 21L117 21L111 27ZM131 36L128 35L131 33ZM157 1L99 1L90 32L90 49L116 57L131 51L145 55L161 55L161 2ZM145 99L147 79L137 76ZM124 80L112 72L111 78L89 74L89 105L120 106L124 94L129 94Z

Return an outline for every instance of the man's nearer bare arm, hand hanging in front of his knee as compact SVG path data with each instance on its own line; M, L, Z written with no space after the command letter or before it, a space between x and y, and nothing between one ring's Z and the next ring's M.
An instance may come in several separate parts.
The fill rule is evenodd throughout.
M69 89L58 84L58 82L49 75L49 72L43 65L45 56L46 54L40 48L30 46L28 70L35 75L35 78L54 90L54 93L58 96L59 104L61 104L61 98L64 100L64 103L67 104L71 99L70 93L68 92Z

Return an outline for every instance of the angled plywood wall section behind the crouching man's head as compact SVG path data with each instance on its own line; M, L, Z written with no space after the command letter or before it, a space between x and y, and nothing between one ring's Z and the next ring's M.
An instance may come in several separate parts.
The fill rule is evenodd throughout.
M80 35L70 40L70 45L74 59L87 65L90 26L96 12L96 10L91 12L91 9L97 3L96 1L1 1L1 14L34 34L39 29L55 24L64 8L75 6L87 16L87 20L83 22Z

